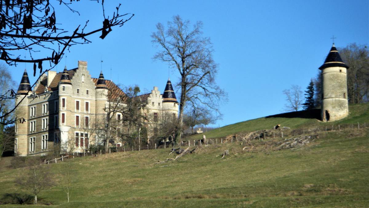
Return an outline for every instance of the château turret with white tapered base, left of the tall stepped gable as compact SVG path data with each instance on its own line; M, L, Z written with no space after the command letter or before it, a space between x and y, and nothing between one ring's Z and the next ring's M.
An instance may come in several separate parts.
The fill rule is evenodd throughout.
M72 101L72 82L70 81L70 76L65 66L62 76L58 84L59 90L59 131L60 131L60 142L62 151L68 152L69 138L68 133L72 125L74 126L74 115L72 115L72 110L74 110L74 101ZM71 145L71 144L70 144Z

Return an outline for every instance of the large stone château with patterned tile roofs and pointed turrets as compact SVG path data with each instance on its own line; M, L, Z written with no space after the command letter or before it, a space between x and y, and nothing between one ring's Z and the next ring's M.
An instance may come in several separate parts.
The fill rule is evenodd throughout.
M124 92L103 73L91 78L86 61L78 61L78 67L61 73L48 71L31 89L27 71L24 71L15 98L15 115L25 118L15 125L15 153L17 155L43 155L58 142L75 141L73 151L83 152L90 143L86 126L99 115L106 118L108 91L123 95ZM178 114L178 103L170 80L164 93L154 87L151 93L141 95L147 102L146 113L155 118L163 112ZM117 114L117 119L120 115Z

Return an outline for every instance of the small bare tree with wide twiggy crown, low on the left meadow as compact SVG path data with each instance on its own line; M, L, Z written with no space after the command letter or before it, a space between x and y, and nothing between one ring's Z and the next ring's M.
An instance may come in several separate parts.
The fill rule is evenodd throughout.
M27 160L27 169L15 182L31 192L34 196L34 204L37 204L38 193L54 186L54 180L49 165L40 165L37 157Z

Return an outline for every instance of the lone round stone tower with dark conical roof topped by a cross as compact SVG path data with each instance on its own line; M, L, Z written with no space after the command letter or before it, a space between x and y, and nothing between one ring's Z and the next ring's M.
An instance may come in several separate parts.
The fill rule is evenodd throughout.
M322 121L337 121L348 115L347 78L349 67L342 61L337 48L333 46L319 67L322 80Z

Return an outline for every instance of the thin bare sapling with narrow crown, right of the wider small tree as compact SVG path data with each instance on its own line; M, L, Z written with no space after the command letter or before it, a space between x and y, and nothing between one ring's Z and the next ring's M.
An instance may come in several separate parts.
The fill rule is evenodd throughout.
M72 168L72 165L68 162L65 168L62 171L62 177L60 184L63 187L63 191L67 194L67 199L69 203L69 199L72 196L73 188L75 182L77 181L76 171Z

